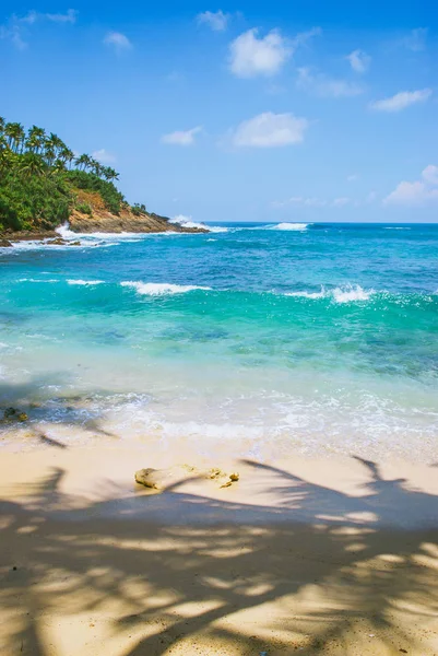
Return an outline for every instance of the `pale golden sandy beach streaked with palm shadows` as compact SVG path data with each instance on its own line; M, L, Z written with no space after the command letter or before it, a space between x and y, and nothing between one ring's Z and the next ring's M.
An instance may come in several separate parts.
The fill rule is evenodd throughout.
M438 653L436 465L54 443L0 487L4 656Z

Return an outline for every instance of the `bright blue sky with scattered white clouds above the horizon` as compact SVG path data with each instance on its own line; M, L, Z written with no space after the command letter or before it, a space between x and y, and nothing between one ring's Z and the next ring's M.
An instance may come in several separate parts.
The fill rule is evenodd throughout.
M438 12L2 2L0 115L193 221L438 221Z

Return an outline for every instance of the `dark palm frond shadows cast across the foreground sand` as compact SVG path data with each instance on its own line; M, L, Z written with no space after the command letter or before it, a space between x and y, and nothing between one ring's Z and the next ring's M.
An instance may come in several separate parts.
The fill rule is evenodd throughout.
M51 653L38 622L61 605L69 616L105 617L129 656L191 653L190 640L200 654L353 654L352 640L369 636L376 654L427 654L400 618L426 626L438 617L438 499L363 464L368 493L353 497L247 461L280 507L188 494L184 484L78 507L59 492L64 472L52 470L28 489L31 502L0 502L0 600L12 618L4 653ZM407 531L400 508L422 522ZM222 651L205 651L205 640Z

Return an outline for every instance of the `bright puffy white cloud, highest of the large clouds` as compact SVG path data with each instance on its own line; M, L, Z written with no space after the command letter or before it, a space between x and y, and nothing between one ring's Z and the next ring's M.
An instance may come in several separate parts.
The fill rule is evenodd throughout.
M274 75L293 52L291 44L276 30L264 37L257 35L258 30L249 30L229 46L229 68L239 78Z

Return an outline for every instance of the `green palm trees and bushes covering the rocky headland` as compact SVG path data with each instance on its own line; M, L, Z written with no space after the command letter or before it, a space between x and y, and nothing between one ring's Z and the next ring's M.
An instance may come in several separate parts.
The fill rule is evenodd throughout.
M52 132L0 117L0 231L52 230L73 209L91 213L79 190L98 192L118 214L126 203L114 185L119 174L90 155L76 155Z

